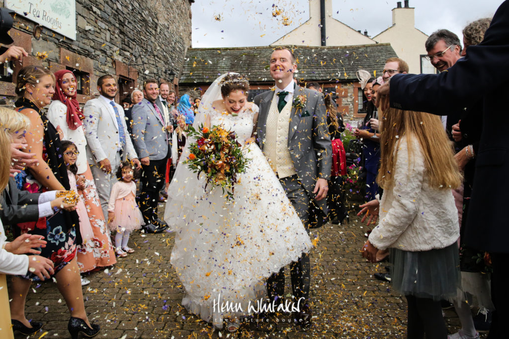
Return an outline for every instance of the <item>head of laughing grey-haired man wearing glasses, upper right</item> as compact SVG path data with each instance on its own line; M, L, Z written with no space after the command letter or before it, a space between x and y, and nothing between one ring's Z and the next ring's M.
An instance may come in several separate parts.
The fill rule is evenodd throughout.
M461 57L461 43L456 34L439 29L426 40L426 58L440 72L456 64Z

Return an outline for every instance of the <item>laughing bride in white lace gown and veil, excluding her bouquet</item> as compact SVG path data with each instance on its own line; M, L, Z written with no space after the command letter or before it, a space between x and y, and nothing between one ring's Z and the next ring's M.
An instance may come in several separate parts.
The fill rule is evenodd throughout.
M302 222L260 148L252 142L258 107L247 102L249 83L237 73L206 91L193 127L222 125L237 135L247 169L234 199L208 186L181 161L169 186L164 220L176 232L171 263L186 294L182 304L203 320L234 331L238 319L259 311L265 280L312 247ZM189 155L188 139L182 159Z

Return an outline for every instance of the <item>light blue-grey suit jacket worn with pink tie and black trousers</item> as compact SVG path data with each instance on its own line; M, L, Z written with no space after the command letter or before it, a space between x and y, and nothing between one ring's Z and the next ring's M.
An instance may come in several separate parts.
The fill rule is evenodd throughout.
M150 160L162 160L166 158L168 154L166 124L157 114L154 105L147 99L143 99L142 102L132 107L132 135L139 159L149 157Z

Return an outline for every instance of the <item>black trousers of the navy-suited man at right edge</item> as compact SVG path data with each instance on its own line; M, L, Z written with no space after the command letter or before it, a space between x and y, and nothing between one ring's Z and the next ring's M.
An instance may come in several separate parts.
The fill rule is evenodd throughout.
M488 339L509 338L507 320L509 320L509 253L492 253L491 263L491 300L495 305Z

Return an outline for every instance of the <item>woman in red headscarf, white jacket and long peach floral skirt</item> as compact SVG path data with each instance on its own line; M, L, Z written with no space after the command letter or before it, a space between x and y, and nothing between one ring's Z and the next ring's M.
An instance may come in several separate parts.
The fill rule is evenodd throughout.
M90 220L93 231L93 237L78 246L77 263L81 273L84 273L96 267L115 264L115 252L106 229L106 220L101 209L96 183L87 161L84 115L76 100L76 77L71 71L61 70L55 72L55 78L55 93L49 105L47 117L53 126L59 127L63 140L69 140L76 146L74 161L78 181L81 182L77 192L86 207L87 219ZM85 215L82 217L84 218ZM86 283L86 279L82 283Z

